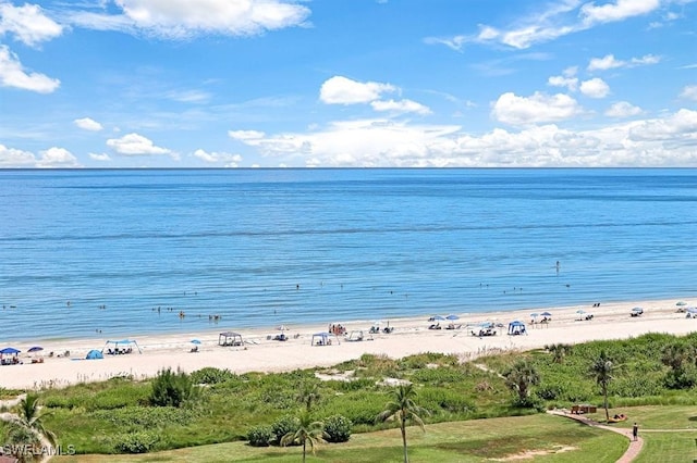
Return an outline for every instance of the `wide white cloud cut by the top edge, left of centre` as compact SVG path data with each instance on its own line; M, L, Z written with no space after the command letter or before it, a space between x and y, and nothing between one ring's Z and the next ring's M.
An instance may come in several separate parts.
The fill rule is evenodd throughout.
M114 0L121 15L75 12L71 21L100 30L142 30L163 38L248 36L304 25L310 11L285 0Z

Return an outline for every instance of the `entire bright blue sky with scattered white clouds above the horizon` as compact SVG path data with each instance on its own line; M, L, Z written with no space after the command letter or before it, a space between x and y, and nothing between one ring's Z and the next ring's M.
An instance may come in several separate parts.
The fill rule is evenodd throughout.
M0 168L257 166L697 166L697 0L0 0Z

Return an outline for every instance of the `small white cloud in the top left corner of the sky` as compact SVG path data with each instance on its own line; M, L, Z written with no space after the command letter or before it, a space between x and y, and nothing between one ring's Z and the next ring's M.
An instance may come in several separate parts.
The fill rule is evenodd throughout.
M39 5L14 7L0 2L0 36L13 34L17 40L36 47L38 43L60 36L63 27L46 16Z

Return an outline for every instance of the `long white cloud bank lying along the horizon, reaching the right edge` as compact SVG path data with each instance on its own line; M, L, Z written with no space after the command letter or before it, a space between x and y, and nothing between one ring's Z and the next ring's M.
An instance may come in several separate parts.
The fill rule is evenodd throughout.
M573 105L572 105L573 107ZM274 165L332 167L697 166L697 111L592 130L533 125L470 135L460 126L340 121L247 142Z

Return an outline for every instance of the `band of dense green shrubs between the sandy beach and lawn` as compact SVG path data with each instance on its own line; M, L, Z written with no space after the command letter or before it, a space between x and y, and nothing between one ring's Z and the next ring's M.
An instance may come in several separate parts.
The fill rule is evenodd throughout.
M217 368L203 368L192 375L166 371L149 381L124 377L44 391L40 398L48 413L41 416L41 422L46 429L57 434L59 443L72 445L80 453L158 452L151 455L154 460L150 461L155 461L160 455L169 455L162 453L163 450L187 448L182 453L191 454L199 451L194 449L197 446L229 442L225 446L241 446L234 447L235 452L246 455L246 461L277 458L284 461L286 458L292 460L293 449L280 447L283 436L297 431L296 417L301 413L311 413L314 421L323 423L323 438L328 441L317 452L317 459L331 461L329 455L338 458L341 454L341 461L394 461L399 458L395 449L402 447L404 450L398 430L401 420L381 422L376 417L386 411L386 392L394 389L383 384L404 380L411 383L412 390L418 395L414 403L427 411L417 413L427 433L420 435L412 428L406 431L411 459L448 461L444 455L450 452L451 455L463 455L462 459L458 456L461 461L479 461L477 459L500 458L501 454L549 450L546 446L551 445L577 448L592 439L623 441L621 436L606 436L602 431L583 434L585 428L565 424L559 417L551 417L559 429L536 427L530 435L524 429L504 429L503 426L492 428L489 436L478 428L476 431L454 430L469 429L469 423L478 418L508 416L514 420L512 416L521 416L518 423L547 420L538 414L545 408L570 408L582 402L601 405L607 400L609 415L612 410L628 414L629 421L637 418L641 429L650 428L650 423L656 423L656 428L697 427L697 421L684 418L684 413L692 412L681 412L683 424L676 424L670 414L661 416L658 412L644 412L650 405L681 411L694 410L697 405L697 381L690 379L697 377L697 355L690 346L697 346L697 334L686 337L651 334L573 348L550 346L543 350L503 353L467 363L461 363L455 355L438 353L401 360L366 354L321 372L335 375L337 380L320 380L313 370L242 375ZM602 368L596 368L600 365ZM352 380L345 380L346 377ZM386 381L388 378L390 380ZM629 406L633 408L631 412L626 410ZM640 418L641 413L646 413L646 423ZM603 410L597 418L606 421L604 415ZM479 420L476 423L486 427L493 422ZM442 426L437 425L439 423ZM451 430L443 431L444 436L431 436L435 429L449 428ZM570 434L563 436L561 429ZM445 436L449 433L449 437ZM9 434L7 426L0 426L2 442L8 441ZM697 434L692 440L682 437L688 436L684 431L674 434L684 443L682 450L675 451L695 458ZM376 443L371 436L378 435L393 436L393 440ZM655 458L673 446L669 438L658 433L641 435L647 442L646 452ZM508 437L504 439L504 436ZM362 456L359 448L355 447L360 442L366 446L363 453L375 454ZM492 442L497 450L489 449L491 446L487 442ZM617 449L614 445L609 446ZM482 450L482 447L487 449ZM335 449L342 449L341 453L334 453L339 452ZM598 449L589 451L596 456L587 460L613 461L598 454L601 453ZM553 458L540 459L565 461L568 454L567 461L577 461L578 453L574 452L557 452ZM294 458L298 456L295 453ZM663 456L659 460L669 461Z

